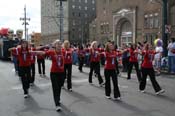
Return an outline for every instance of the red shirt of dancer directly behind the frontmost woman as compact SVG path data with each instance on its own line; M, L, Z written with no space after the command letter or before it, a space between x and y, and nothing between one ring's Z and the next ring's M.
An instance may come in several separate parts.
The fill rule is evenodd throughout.
M64 64L72 64L72 49L63 49Z

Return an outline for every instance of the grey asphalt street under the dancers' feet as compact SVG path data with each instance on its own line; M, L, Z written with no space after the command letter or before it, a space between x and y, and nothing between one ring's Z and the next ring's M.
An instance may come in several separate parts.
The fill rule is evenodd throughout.
M50 64L46 60L46 77L40 77L36 70L35 86L30 88L30 98L24 99L13 64L0 61L0 116L175 116L174 75L157 77L166 91L157 96L149 79L146 93L140 93L136 75L127 80L122 73L118 77L122 100L114 101L105 98L104 88L99 87L96 77L93 77L94 85L89 85L89 68L80 73L77 66L73 66L72 71L73 92L62 89L62 111L58 113L49 78Z

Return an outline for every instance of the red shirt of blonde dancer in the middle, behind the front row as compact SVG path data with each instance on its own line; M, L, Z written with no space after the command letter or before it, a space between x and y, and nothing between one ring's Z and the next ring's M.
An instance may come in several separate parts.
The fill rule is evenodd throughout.
M90 62L100 62L100 50L90 49Z

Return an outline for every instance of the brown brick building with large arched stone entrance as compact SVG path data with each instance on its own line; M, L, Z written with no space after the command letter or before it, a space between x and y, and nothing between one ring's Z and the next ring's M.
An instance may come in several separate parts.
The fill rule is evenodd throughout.
M103 1L103 2L102 2ZM162 33L162 0L97 0L97 17L90 24L91 40L104 43L149 41ZM168 0L168 25L175 35L175 1Z

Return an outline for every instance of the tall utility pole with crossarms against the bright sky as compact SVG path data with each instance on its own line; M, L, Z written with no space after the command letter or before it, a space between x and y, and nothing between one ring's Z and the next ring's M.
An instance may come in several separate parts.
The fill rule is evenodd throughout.
M25 31L25 40L27 40L27 25L29 25L29 23L27 22L30 21L30 18L27 18L27 15L26 15L26 5L24 6L24 17L21 17L20 20L24 21L22 23L22 25L24 25L24 31Z

